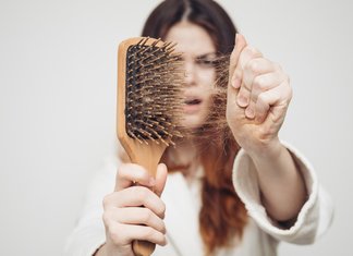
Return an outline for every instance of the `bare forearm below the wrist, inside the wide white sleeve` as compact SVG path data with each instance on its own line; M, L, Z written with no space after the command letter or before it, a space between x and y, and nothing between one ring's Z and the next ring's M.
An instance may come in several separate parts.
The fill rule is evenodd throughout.
M291 154L278 142L251 157L268 215L278 221L293 219L306 199L306 188Z

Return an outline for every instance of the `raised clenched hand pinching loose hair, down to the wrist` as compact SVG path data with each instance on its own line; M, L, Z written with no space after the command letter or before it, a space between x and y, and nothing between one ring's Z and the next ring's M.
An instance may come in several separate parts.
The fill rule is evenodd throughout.
M288 75L240 34L230 63L227 121L236 142L249 154L277 147L292 98Z

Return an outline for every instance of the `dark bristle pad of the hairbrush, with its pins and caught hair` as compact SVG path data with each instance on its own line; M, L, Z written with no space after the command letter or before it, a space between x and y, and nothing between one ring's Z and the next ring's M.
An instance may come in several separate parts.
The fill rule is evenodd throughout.
M183 72L175 45L144 37L127 48L125 130L142 144L169 146L182 137Z

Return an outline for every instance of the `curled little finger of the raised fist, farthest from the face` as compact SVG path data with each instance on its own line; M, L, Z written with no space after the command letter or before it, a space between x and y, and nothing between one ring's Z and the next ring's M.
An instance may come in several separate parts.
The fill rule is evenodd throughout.
M279 86L276 86L275 88L259 94L255 105L255 121L257 123L263 123L266 120L270 108L272 107L271 112L273 112L273 120L271 121L280 122L277 119L283 119L283 112L285 112L291 97L292 89L290 88L287 82L283 82ZM282 113L277 112L277 110L282 111Z

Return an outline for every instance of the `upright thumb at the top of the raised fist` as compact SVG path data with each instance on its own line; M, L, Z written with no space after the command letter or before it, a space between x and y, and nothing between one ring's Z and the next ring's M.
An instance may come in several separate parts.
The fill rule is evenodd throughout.
M235 35L235 46L230 56L230 65L229 65L229 85L228 87L240 88L242 83L242 68L238 65L238 61L242 50L246 47L247 42L243 35ZM230 89L233 90L233 89ZM230 93L230 92L228 92Z

